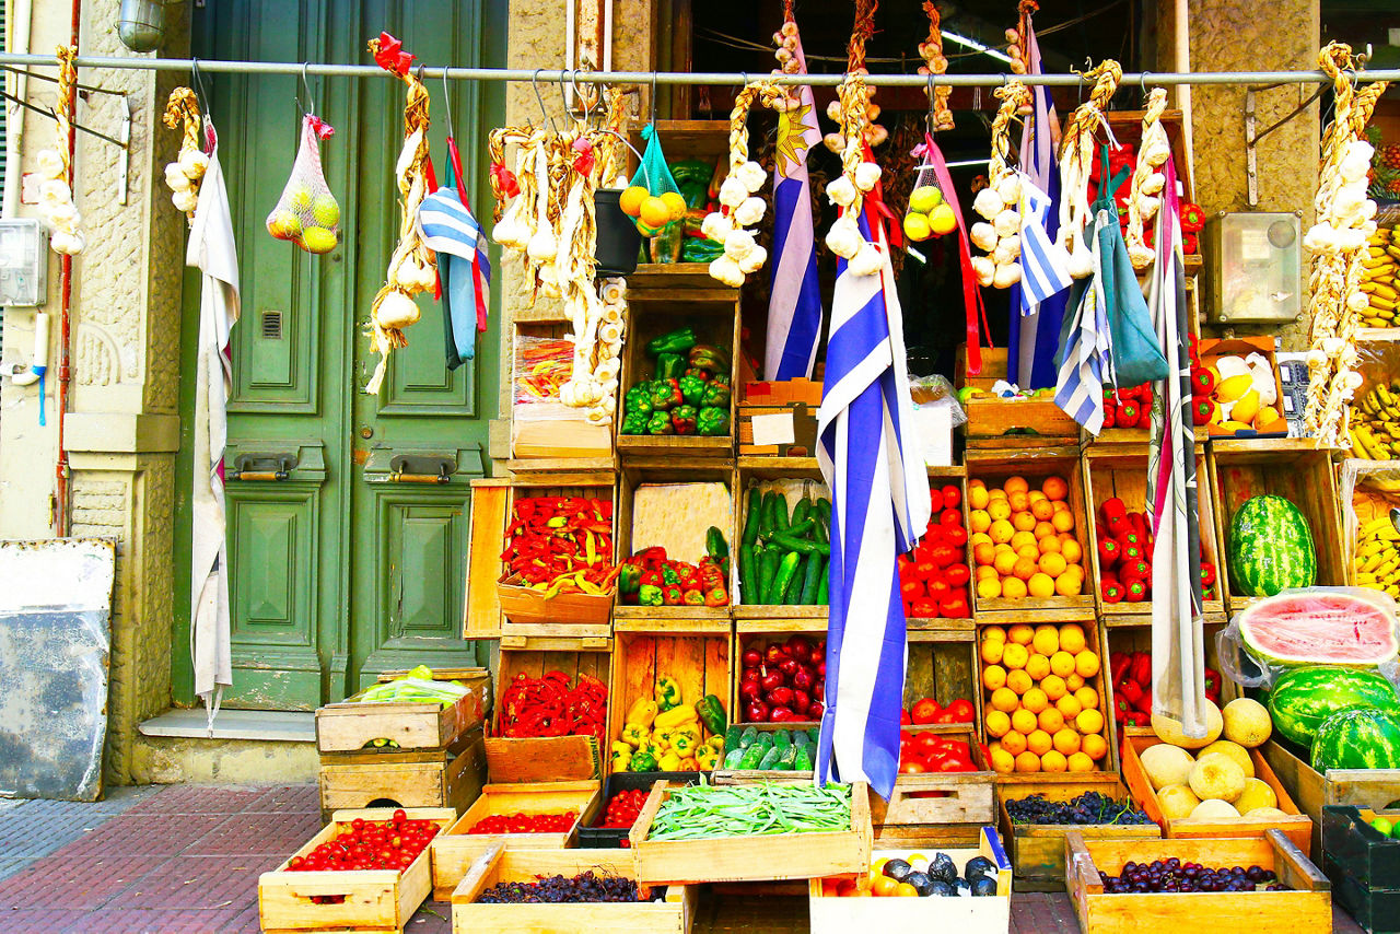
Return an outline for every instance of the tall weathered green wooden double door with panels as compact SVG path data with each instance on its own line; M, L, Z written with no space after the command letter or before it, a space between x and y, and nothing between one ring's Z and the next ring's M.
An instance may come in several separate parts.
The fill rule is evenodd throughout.
M426 63L497 63L501 50L487 50L484 36L504 35L503 11L504 0L221 0L196 11L195 45L210 59L368 63L365 41L385 29ZM469 483L484 472L496 410L496 315L476 361L448 372L441 307L421 301L423 319L392 358L382 393L363 389L375 361L370 304L398 230L403 84L312 80L321 116L336 127L322 160L342 206L342 245L315 258L263 227L295 154L300 78L203 80L242 277L227 465L263 478L228 483L234 686L225 703L309 709L385 669L475 662L456 636ZM441 165L445 91L441 81L430 91ZM475 204L500 88L454 81L451 95ZM197 284L186 287L185 305L188 347ZM448 482L414 482L438 473ZM179 662L188 643L175 644ZM185 678L188 662L176 665L176 699Z

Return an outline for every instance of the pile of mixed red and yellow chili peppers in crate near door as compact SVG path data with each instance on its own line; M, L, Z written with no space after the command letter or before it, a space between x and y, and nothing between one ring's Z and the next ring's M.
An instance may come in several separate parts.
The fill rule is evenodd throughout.
M603 594L617 577L612 564L612 503L584 496L515 500L505 529L505 580L547 595Z

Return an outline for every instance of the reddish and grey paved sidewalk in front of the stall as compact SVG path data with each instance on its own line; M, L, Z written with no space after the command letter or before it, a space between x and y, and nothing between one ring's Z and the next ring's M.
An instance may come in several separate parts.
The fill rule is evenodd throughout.
M319 829L312 784L116 788L97 804L0 800L0 931L256 934L258 875ZM1338 934L1361 931L1340 909L1334 917ZM430 902L405 930L451 928L451 906ZM1012 934L1078 930L1063 893L1012 898ZM806 899L701 898L694 934L718 931L806 934Z

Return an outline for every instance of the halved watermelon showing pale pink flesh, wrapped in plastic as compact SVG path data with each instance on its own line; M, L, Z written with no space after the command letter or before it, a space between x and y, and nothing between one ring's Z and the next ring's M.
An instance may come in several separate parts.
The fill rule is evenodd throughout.
M1400 651L1394 605L1347 591L1266 597L1235 620L1250 654L1275 665L1379 665Z

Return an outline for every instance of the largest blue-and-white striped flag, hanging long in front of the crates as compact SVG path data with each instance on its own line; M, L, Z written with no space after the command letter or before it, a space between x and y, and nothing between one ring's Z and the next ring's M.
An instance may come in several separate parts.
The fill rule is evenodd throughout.
M860 217L869 238L869 224ZM885 265L836 266L818 462L832 490L826 711L816 781L868 781L889 798L904 702L904 604L896 556L928 525L928 475L911 419L904 332L883 231Z

